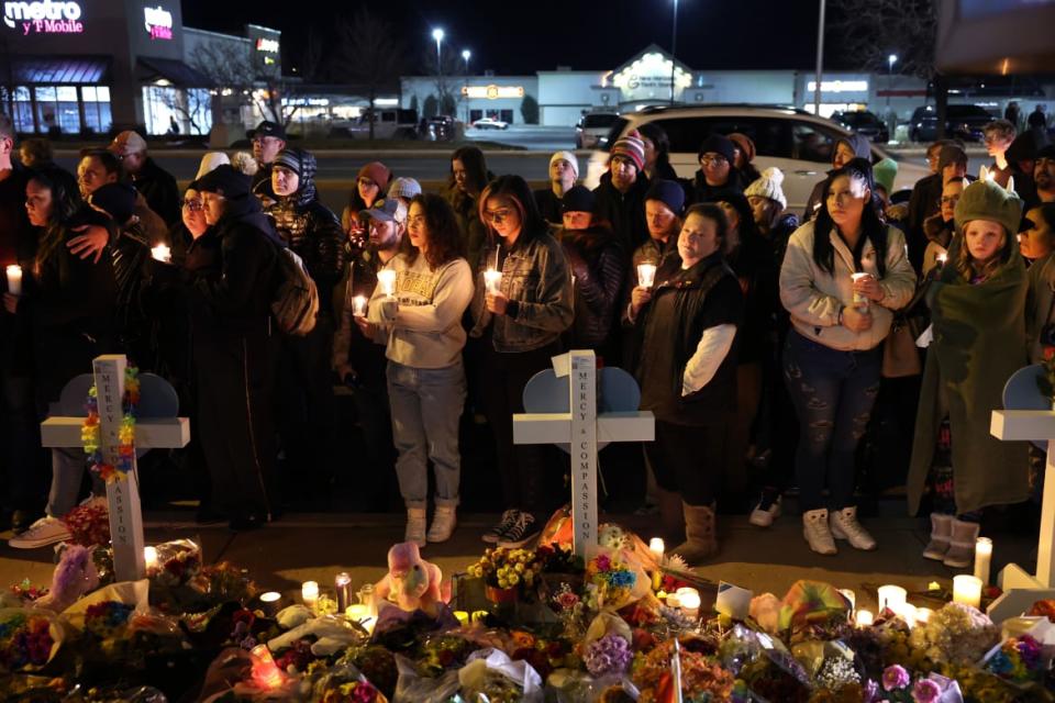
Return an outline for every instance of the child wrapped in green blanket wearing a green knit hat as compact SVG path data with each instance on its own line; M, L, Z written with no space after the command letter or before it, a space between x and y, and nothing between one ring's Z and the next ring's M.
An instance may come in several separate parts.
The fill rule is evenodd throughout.
M1014 234L1022 200L990 180L964 189L957 236L929 291L934 341L926 350L912 460L909 512L933 499L923 556L969 566L980 511L1030 496L1024 444L989 434L1008 378L1026 360L1029 281ZM999 471L993 470L999 467Z

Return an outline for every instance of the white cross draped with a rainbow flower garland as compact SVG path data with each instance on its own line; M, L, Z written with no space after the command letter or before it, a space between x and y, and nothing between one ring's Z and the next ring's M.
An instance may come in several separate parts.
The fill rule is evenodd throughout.
M121 354L107 354L92 361L99 403L99 448L103 461L118 466L121 421L124 417L124 369L127 359ZM48 417L41 423L45 447L80 447L84 417ZM190 442L190 423L186 417L136 419L135 448L173 449ZM140 509L140 481L135 456L124 480L107 482L110 512L110 542L113 546L113 571L118 581L137 581L145 574L143 556L143 515Z

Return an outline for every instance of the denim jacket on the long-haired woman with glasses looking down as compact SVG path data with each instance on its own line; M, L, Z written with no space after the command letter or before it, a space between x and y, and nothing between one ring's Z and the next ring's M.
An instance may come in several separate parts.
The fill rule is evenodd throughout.
M571 272L560 244L548 233L522 233L502 263L502 293L509 299L504 315L484 304L484 271L495 266L498 243L488 242L477 266L473 295L474 337L484 336L493 320L497 352L531 352L556 342L571 325Z

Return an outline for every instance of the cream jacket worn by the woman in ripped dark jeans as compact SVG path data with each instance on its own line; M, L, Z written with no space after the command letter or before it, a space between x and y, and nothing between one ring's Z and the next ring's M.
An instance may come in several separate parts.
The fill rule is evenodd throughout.
M839 236L835 227L829 234L832 247L833 272L829 274L813 260L813 226L808 222L791 235L780 268L780 302L791 313L791 324L803 337L841 352L866 352L875 348L890 332L895 310L900 310L915 292L915 272L904 249L904 236L897 227L887 227L886 274L880 278L878 253L866 239L860 254L862 270L879 280L886 297L881 303L870 303L871 327L852 332L839 323L839 313L854 304L854 283L851 274L854 255Z

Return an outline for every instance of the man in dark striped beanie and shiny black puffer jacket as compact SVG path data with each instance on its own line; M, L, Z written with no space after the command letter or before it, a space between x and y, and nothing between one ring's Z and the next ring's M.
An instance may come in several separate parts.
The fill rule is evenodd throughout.
M277 201L266 212L275 219L278 235L301 259L319 287L319 315L304 336L284 336L278 376L278 422L286 455L287 478L293 486L312 486L306 473L323 482L333 476L329 466L335 451L333 383L330 350L333 345L333 288L344 272L344 231L336 215L315 193L315 157L287 148L271 164L271 191ZM292 469L292 471L289 471Z

